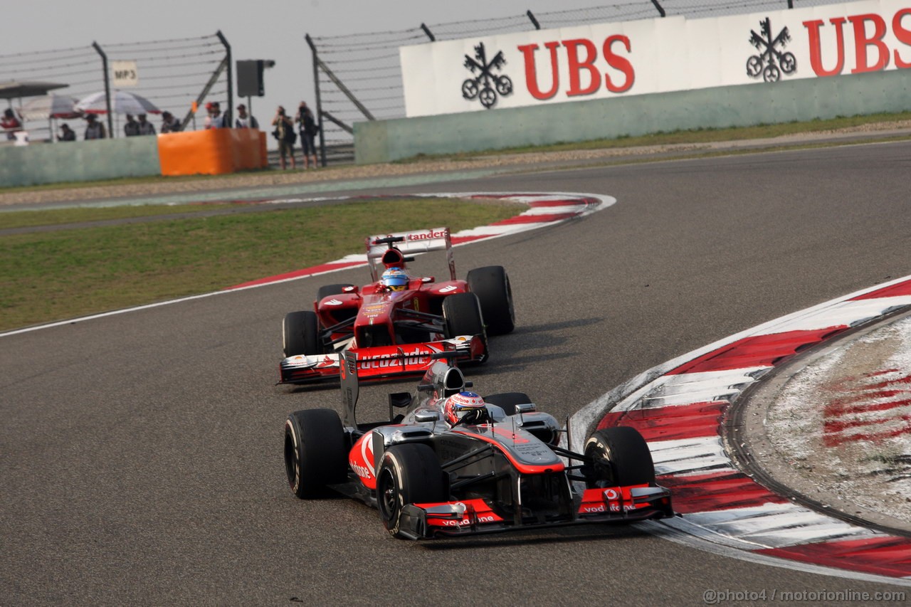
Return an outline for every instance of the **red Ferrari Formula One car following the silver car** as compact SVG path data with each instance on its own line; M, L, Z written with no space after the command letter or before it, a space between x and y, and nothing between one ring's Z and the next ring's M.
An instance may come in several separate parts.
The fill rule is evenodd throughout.
M486 266L456 280L447 228L370 236L366 245L373 283L322 286L312 311L285 315L279 383L334 380L347 350L357 352L363 380L420 376L428 355L452 350L483 363L487 335L515 327L506 271ZM445 251L449 280L407 273L407 255L432 251Z

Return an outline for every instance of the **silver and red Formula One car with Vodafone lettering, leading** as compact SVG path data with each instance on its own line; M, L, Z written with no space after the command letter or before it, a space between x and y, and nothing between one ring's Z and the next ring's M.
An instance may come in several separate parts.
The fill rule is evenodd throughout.
M525 394L467 392L454 357L435 355L414 395L389 395L390 421L359 424L359 361L346 352L344 417L309 409L285 422L294 495L331 488L361 499L390 534L411 540L674 516L637 430L598 430L583 453L570 452L557 420Z

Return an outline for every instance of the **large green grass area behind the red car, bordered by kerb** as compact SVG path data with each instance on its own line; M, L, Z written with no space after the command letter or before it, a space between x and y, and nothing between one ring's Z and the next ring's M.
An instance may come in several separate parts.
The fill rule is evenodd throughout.
M3 236L0 330L300 270L362 252L368 234L441 225L459 231L519 212L445 199L353 201Z

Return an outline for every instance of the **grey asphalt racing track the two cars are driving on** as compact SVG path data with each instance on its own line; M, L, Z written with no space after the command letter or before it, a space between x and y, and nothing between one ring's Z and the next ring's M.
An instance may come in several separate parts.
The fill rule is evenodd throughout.
M677 355L911 273L909 174L911 143L899 142L395 192L617 199L455 250L460 275L504 265L516 296L516 332L494 338L469 378L562 419ZM393 540L359 502L293 498L284 418L339 396L273 385L281 318L322 283L366 278L360 268L0 338L0 603L698 605L707 591L906 590L628 527ZM367 389L362 403L379 405L360 417L381 417L385 392L411 386Z

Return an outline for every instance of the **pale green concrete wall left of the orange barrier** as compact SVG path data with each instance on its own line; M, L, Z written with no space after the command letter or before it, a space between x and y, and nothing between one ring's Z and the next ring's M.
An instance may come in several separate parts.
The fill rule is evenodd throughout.
M160 174L156 137L0 147L0 188Z

